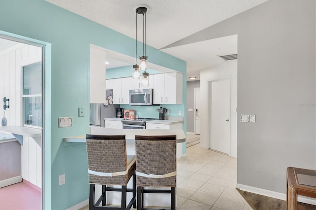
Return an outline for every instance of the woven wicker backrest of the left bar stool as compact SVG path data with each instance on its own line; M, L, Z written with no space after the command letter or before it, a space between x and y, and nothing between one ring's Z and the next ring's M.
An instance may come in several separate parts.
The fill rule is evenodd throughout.
M127 170L125 135L86 135L88 169L99 173ZM90 184L126 185L131 175L102 176L89 173Z

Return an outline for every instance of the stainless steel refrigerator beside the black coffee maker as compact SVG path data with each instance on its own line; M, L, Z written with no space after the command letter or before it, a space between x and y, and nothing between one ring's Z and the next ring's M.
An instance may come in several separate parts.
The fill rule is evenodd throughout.
M106 91L106 98L112 96L113 91ZM119 105L90 104L90 126L104 127L104 118L116 117Z

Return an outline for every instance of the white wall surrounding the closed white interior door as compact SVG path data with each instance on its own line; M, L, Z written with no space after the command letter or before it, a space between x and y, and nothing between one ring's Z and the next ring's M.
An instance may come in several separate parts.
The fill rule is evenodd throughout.
M201 131L200 146L210 148L210 127L208 102L210 95L208 93L207 83L216 78L231 76L231 152L230 156L237 157L237 60L226 61L210 70L200 71L200 96L201 96Z

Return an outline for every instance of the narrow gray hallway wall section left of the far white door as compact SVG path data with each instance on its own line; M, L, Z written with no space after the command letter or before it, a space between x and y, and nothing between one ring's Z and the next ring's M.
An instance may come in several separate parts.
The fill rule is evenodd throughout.
M194 88L199 87L199 80L187 81L187 132L194 133ZM193 111L188 111L193 108Z

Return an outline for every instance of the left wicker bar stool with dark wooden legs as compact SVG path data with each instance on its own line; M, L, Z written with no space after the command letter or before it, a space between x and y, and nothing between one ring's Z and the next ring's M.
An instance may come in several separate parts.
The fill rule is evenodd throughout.
M125 135L102 136L86 135L88 173L90 184L89 210L116 209L129 210L136 208L136 175L135 156L126 155ZM133 188L126 185L133 176ZM102 185L102 195L95 203L95 185ZM121 185L121 188L107 187ZM121 207L109 207L106 204L106 192L121 192ZM132 192L131 201L126 207L126 192ZM102 206L99 206L102 202Z

